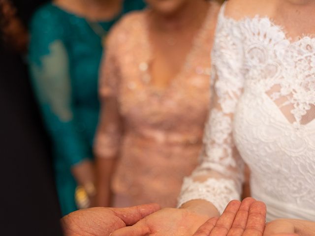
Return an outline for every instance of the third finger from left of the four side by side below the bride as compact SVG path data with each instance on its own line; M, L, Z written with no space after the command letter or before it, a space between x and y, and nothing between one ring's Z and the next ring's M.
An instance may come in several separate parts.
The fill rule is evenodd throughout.
M256 202L256 200L253 198L246 198L242 201L242 204L236 213L232 228L227 236L242 236L246 228L250 207L254 202Z

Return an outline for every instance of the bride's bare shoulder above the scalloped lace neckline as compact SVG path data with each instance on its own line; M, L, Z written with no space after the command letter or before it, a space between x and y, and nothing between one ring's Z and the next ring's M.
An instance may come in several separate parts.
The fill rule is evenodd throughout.
M224 4L224 16L234 20L266 15L274 0L227 0Z

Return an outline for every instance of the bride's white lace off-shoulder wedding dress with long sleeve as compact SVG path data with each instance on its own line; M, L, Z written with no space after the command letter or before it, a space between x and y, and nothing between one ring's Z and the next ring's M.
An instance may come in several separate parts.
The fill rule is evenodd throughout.
M179 205L239 199L243 166L267 220L315 221L315 38L291 41L268 17L219 15L212 52L214 99L201 164Z

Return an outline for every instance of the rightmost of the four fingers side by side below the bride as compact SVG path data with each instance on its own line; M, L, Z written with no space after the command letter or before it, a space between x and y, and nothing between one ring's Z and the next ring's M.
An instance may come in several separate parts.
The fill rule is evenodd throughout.
M256 201L252 203L244 234L242 236L263 236L266 223L266 205Z

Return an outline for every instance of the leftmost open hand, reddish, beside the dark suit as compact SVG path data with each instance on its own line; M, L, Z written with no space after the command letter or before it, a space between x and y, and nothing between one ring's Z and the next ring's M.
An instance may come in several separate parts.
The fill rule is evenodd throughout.
M61 219L65 236L109 236L158 211L158 204L128 208L95 207L74 211Z

